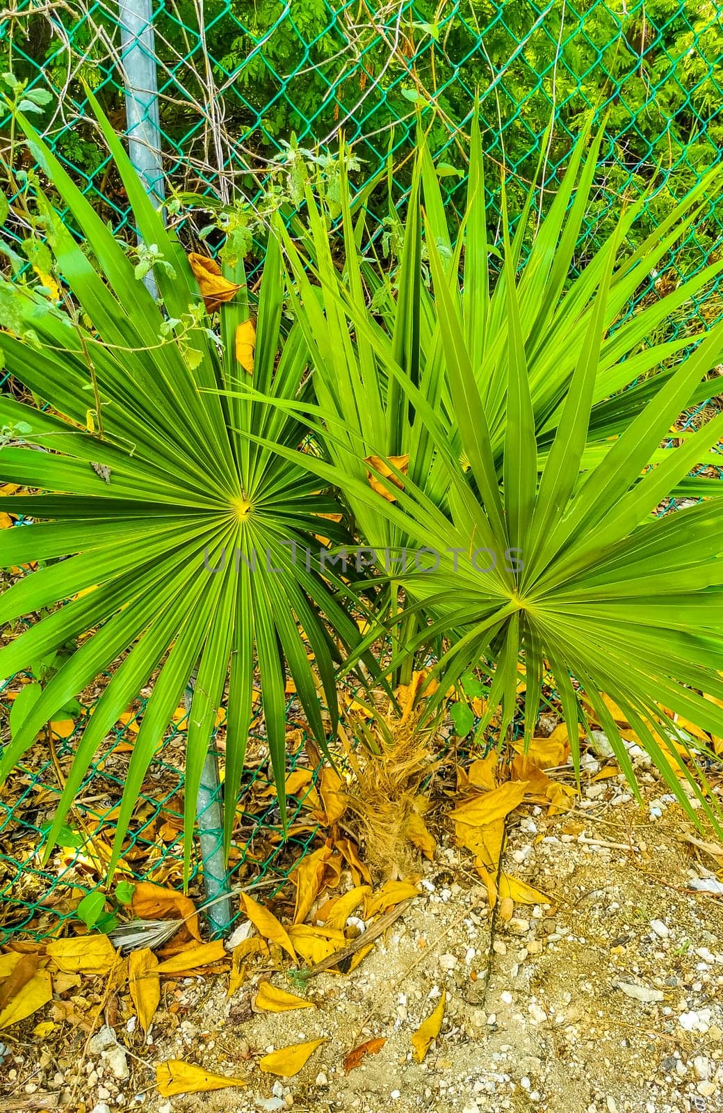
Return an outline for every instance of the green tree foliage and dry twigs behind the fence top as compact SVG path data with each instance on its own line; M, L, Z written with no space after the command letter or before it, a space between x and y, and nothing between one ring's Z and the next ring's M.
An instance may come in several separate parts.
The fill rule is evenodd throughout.
M171 0L156 17L167 169L177 187L222 201L232 187L258 196L270 161L285 171L277 174L280 205L293 193L295 164L318 142L335 150L343 132L365 177L392 150L402 191L419 110L430 149L445 152L445 193L458 204L478 92L485 150L512 171L512 193L516 187L519 196L541 155L545 181L554 186L585 114L606 112L606 175L591 207L592 223L602 221L596 239L616 220L624 194L637 196L653 184L644 233L723 142L722 13L719 3L693 0L575 7L563 0L546 7L531 0L210 0L199 21L197 4ZM105 196L103 215L122 227L127 199L88 124L82 88L86 82L97 92L122 129L116 18L115 6L85 0L47 11L21 2L0 24L0 71L61 93L43 121L51 146ZM491 175L487 188L498 189ZM389 246L386 196L379 191L377 209ZM493 219L495 213L493 205ZM677 262L684 269L700 266L719 234L712 214L679 245Z

